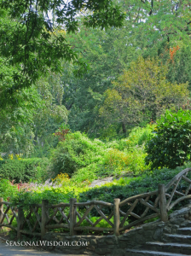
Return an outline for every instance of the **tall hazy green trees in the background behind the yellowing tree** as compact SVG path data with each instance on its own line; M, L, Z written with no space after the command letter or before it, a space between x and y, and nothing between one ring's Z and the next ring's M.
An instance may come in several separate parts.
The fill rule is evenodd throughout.
M159 55L164 66L169 67L165 76L171 84L188 81L189 59L184 58L184 61L180 57L178 65L174 65L170 58L170 50L179 45L180 49L175 55L177 57L183 44L188 44L189 41L190 10L185 8L187 4L187 1L170 3L168 0L119 1L119 6L125 12L124 26L101 31L84 27L80 23L80 30L70 35L68 41L85 62L89 63L90 70L82 79L67 77L66 70L62 75L67 84L63 104L70 109L69 124L72 130L88 132L91 137L119 133L122 123L115 123L112 127L111 122L103 122L99 116L104 99L103 92L112 90L111 81L118 79L123 70L129 68L130 62L135 61L139 55L144 58ZM164 51L165 60L161 55ZM187 67L183 70L185 66ZM173 79L175 75L176 79ZM135 105L135 108L138 106ZM132 115L135 116L134 113ZM147 110L145 115L149 119L151 114ZM136 124L139 122L140 116Z

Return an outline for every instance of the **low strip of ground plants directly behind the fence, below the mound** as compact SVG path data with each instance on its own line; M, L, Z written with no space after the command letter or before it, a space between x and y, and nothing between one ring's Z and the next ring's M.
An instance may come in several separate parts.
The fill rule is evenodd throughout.
M68 178L67 174L59 175L55 178L54 181L50 181L45 185L36 184L29 189L20 190L11 196L10 201L12 201L14 206L21 206L23 209L28 212L29 205L35 203L41 203L43 199L49 200L50 204L55 204L59 202L69 202L70 198L77 198L77 201L107 201L113 203L114 198L119 198L121 201L124 199L133 196L139 195L142 193L150 192L155 189L158 189L159 183L169 183L171 178L176 176L177 173L181 172L183 169L191 167L191 163L186 164L185 166L177 167L176 169L161 169L144 172L138 177L124 177L119 180L113 180L111 183L104 184L100 187L90 188L87 183L76 183L72 182L72 179ZM188 175L190 178L190 175ZM57 183L56 183L57 181ZM184 191L188 184L182 183L181 187L177 188L179 191ZM154 201L155 197L151 197L150 201ZM185 201L182 201L178 207L181 207L185 204ZM138 204L134 209L136 214L140 214L144 207L141 204ZM177 207L173 209L176 210ZM125 209L123 209L125 210ZM79 213L85 211L84 207L78 209ZM109 208L102 208L101 210L106 215L109 215L111 212ZM69 209L65 210L65 214L69 213ZM92 210L89 214L89 218L92 222L95 222L99 215L96 210ZM127 219L126 224L135 219L130 217ZM35 221L35 218L34 218ZM113 222L113 219L111 219ZM87 221L84 220L82 223L83 226L89 225ZM108 227L108 224L105 221L102 221L100 224L101 227Z

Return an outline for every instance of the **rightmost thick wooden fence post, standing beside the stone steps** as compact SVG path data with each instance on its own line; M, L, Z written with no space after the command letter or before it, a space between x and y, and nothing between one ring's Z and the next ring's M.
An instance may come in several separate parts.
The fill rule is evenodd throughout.
M162 221L168 221L168 214L166 209L166 198L165 198L165 185L159 184L159 207L160 207L160 218Z

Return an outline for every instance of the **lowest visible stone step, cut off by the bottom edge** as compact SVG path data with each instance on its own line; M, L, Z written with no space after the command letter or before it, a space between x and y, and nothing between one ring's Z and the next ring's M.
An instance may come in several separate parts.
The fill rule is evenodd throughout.
M190 256L190 254L181 253L165 253L165 252L155 252L148 250L130 250L127 249L124 256Z

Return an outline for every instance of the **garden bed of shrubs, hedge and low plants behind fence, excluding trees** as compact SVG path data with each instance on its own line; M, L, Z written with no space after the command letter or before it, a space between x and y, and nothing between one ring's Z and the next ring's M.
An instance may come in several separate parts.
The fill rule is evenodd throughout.
M11 202L12 207L22 207L27 215L32 206L41 204L43 200L48 200L51 205L68 204L71 198L81 203L105 201L112 204L115 198L124 201L134 195L152 192L158 189L159 183L166 185L177 173L191 167L190 120L189 110L181 109L177 113L167 110L155 124L136 127L127 138L109 142L90 139L79 131L71 132L67 129L65 132L60 129L55 136L61 137L61 140L51 149L49 158L25 159L21 154L9 154L7 159L1 158L0 197ZM95 180L106 177L113 179L93 188L90 186ZM184 192L187 186L187 183L180 183L177 189ZM153 204L155 199L153 196L148 202ZM183 201L178 207L186 202ZM102 235L111 233L111 224L104 218L98 221L101 217L96 210L90 212L90 222L97 222L96 228L103 228ZM125 207L124 212L127 210ZM142 210L143 206L138 204L134 212L141 216ZM68 211L70 209L66 209L64 214L68 215ZM84 207L78 208L80 214L85 211ZM106 216L111 214L107 207L102 207L101 211ZM54 214L54 211L49 214ZM56 212L55 216L61 218L61 211ZM34 224L32 214L30 217L31 224ZM135 219L129 215L125 225ZM77 216L78 221L80 215ZM109 221L113 224L113 216ZM153 221L153 218L145 222L148 221ZM63 222L66 223L66 219ZM12 224L16 226L15 220ZM90 226L86 219L80 224L80 227L85 226ZM81 232L97 233L90 230ZM57 228L56 231L63 231L63 228Z

